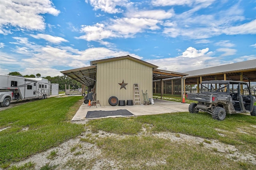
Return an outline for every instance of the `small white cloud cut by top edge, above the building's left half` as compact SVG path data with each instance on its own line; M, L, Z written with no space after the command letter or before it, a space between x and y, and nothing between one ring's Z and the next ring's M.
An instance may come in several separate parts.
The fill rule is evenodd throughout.
M128 3L128 0L86 0L85 2L90 2L94 10L100 9L104 12L115 14L123 11L121 8L116 8L116 6L124 6Z

